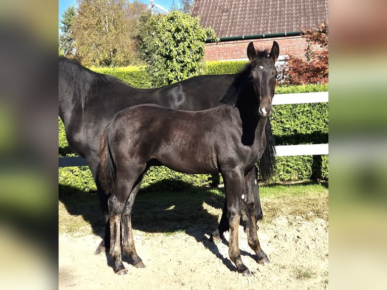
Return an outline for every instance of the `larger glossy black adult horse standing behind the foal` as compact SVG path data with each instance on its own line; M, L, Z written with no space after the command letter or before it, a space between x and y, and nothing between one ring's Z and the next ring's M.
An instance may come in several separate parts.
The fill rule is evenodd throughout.
M252 47L253 44L250 44ZM211 108L226 93L228 86L236 75L205 75L154 89L134 88L127 83L105 74L95 73L79 63L66 58L59 58L59 116L66 131L70 149L86 159L95 180L99 163L98 150L100 137L114 114L130 106L153 103L164 107L199 111ZM270 123L267 122L266 134L272 140ZM264 180L272 174L274 144L266 147L264 158L270 160L260 166L261 178ZM257 179L256 179L257 181ZM101 188L98 181L96 188L106 223L106 246L109 247L109 195ZM259 200L258 183L252 184L255 199ZM262 218L260 203L256 204L256 219ZM228 230L225 212L213 238L219 241L222 233ZM96 254L105 251L104 239Z

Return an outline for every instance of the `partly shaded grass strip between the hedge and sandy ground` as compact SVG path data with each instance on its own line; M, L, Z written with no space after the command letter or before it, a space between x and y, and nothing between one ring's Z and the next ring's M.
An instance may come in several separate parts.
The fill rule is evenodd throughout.
M174 187L176 188L176 187ZM220 220L224 188L199 188L182 184L182 190L140 190L132 211L134 230L171 235L200 228L212 232ZM101 234L104 225L98 197L93 191L60 186L59 232ZM279 215L328 219L328 184L268 184L260 186L263 223Z

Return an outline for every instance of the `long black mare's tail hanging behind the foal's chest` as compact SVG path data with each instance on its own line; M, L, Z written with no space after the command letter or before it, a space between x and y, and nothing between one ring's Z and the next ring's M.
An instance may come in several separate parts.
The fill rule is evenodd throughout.
M261 175L261 180L266 181L270 179L274 174L274 165L275 165L275 147L273 132L271 130L270 119L267 118L265 126L265 135L266 135L266 148L258 162L259 173Z

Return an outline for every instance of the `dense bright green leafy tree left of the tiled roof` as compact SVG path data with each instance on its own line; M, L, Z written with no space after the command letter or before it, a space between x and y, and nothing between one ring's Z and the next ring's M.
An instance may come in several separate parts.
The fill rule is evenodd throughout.
M153 85L161 86L203 73L207 37L216 38L213 29L203 29L199 17L179 11L168 15L142 16L138 52L148 64Z

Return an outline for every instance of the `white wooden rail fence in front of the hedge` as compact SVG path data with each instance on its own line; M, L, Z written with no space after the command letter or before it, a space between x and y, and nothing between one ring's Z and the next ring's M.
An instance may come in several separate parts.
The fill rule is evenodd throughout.
M328 103L328 92L302 92L275 94L273 105L305 104L305 103ZM298 156L298 155L327 155L328 144L307 145L283 145L276 146L276 156ZM59 157L59 167L85 166L86 160L82 157Z

